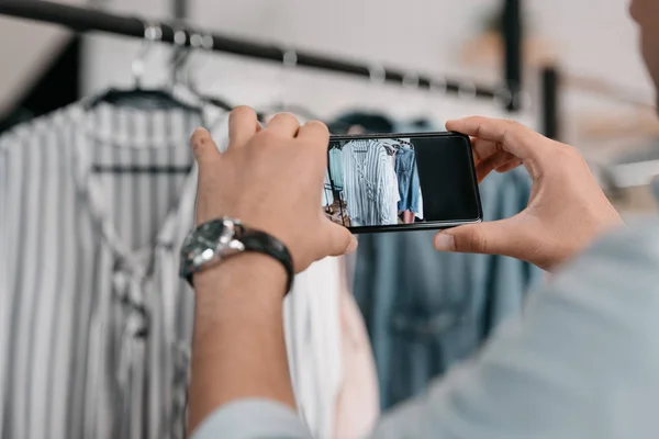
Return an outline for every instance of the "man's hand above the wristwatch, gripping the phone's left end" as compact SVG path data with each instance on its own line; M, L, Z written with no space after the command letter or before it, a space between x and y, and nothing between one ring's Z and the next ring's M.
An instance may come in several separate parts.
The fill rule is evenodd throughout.
M354 251L357 239L321 209L328 135L323 123L300 126L286 113L261 128L248 106L231 113L223 154L205 130L198 130L192 136L199 164L198 223L231 216L275 236L291 252L295 272Z

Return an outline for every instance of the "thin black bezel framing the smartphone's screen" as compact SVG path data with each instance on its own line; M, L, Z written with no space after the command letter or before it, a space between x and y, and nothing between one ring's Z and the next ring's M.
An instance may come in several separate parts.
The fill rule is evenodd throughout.
M396 225L383 225L383 226L358 226L348 227L354 234L368 234L368 233L388 233L388 232L406 232L406 230L440 230L445 228L451 228L461 226L465 224L481 223L483 221L483 207L481 203L480 190L478 187L478 178L476 176L476 165L473 162L473 150L471 148L471 139L469 136L456 133L456 132L436 132L436 133L378 133L378 134L354 134L354 135L331 135L330 143L327 144L327 166L330 165L330 145L333 142L340 140L368 140L377 138L425 138L425 137L460 137L467 140L469 147L469 168L471 170L471 177L473 181L473 188L476 190L476 204L478 209L478 217L471 219L457 219L457 221L436 221L432 223L414 223L414 224L396 224Z

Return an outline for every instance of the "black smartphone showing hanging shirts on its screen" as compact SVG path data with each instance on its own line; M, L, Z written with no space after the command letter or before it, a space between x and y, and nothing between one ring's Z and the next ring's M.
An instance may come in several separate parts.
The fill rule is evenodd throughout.
M439 229L482 221L468 136L331 136L323 210L353 233Z

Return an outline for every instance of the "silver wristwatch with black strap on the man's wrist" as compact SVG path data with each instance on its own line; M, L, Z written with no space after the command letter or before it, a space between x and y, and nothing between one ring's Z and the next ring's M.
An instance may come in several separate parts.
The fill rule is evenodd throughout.
M192 274L215 267L226 258L256 251L277 259L288 275L287 294L293 283L293 258L279 239L265 232L250 229L239 219L223 217L199 225L181 247L180 277L192 285ZM194 286L194 285L192 285Z

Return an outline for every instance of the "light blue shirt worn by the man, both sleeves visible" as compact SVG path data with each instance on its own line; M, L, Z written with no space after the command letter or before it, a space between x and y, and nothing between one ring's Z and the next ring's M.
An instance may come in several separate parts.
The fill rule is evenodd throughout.
M659 224L566 267L471 361L384 416L373 438L657 438ZM196 439L308 438L271 402L219 409Z

